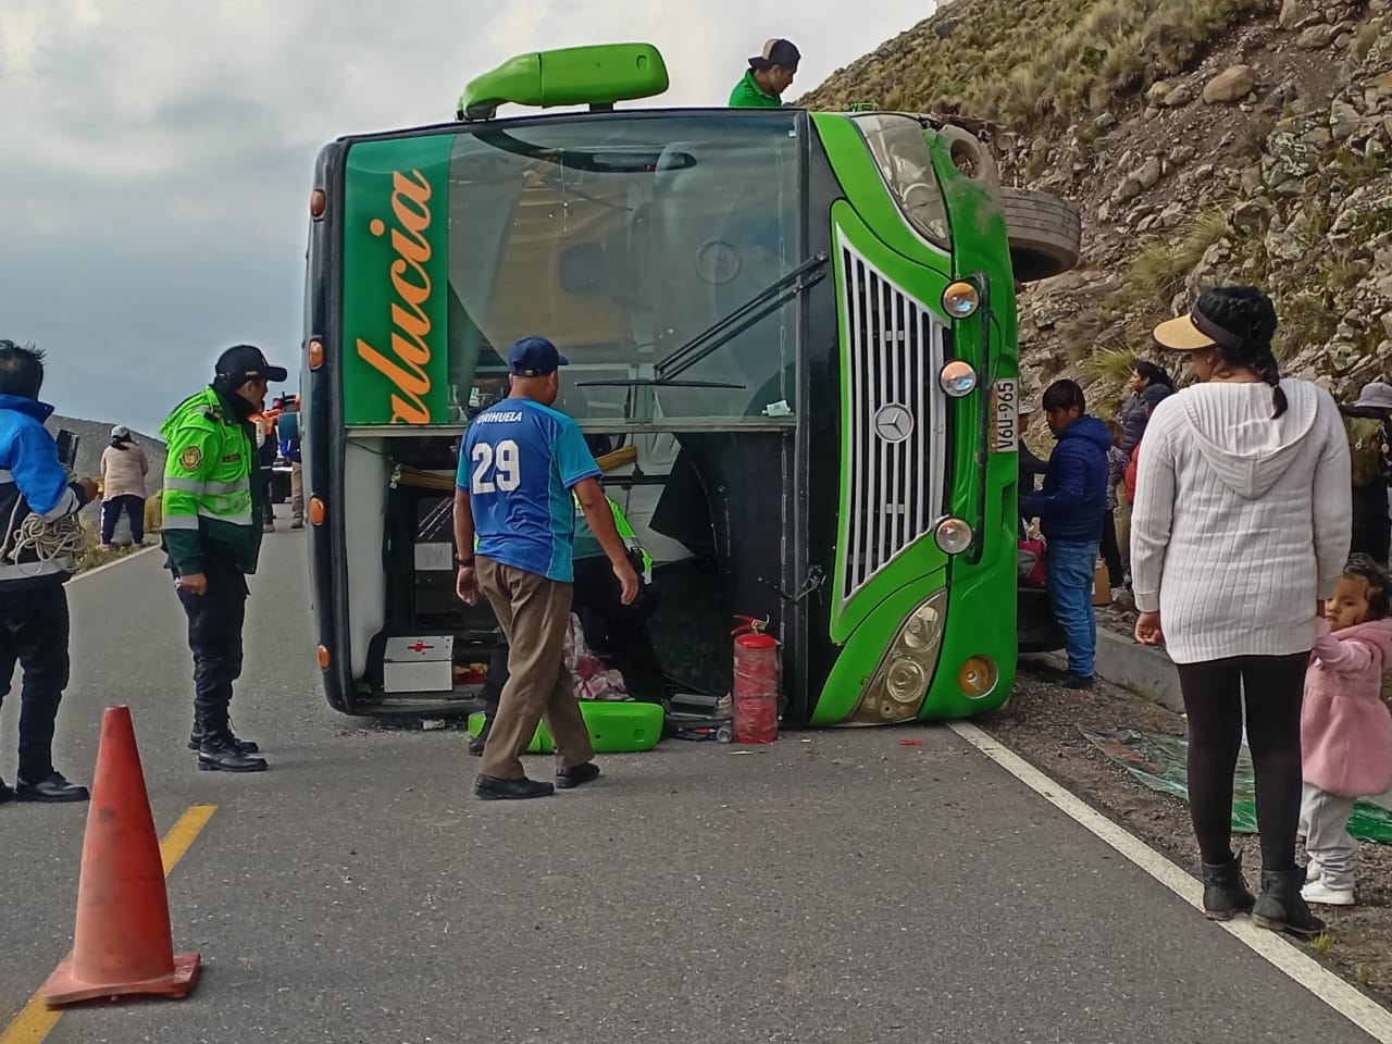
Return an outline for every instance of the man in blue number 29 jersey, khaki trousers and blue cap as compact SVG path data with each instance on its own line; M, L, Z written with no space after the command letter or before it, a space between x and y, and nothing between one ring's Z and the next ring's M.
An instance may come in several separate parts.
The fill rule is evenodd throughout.
M544 337L514 344L511 394L473 419L459 448L455 586L470 606L483 592L508 640L508 681L473 784L484 799L544 798L554 791L522 770L521 754L543 718L555 743L555 786L579 786L600 774L561 664L575 579L574 498L612 565L622 603L638 596L638 574L604 500L599 465L575 422L551 408L565 362Z

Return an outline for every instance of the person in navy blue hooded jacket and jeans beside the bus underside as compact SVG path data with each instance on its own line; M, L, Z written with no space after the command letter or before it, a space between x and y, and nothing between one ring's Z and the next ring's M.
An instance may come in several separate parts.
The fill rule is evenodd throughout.
M1093 579L1107 515L1107 425L1087 413L1083 390L1058 380L1044 391L1044 416L1058 440L1044 472L1044 487L1025 501L1025 514L1038 518L1048 544L1045 568L1054 614L1063 628L1069 689L1093 688L1097 618Z

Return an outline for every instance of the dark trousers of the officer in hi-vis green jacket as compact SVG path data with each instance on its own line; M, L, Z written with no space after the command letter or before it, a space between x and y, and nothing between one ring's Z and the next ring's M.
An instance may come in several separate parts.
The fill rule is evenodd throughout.
M246 619L246 578L228 551L209 547L203 558L207 592L178 589L188 617L188 647L193 653L193 722L206 734L228 728L232 682L242 674L242 624Z

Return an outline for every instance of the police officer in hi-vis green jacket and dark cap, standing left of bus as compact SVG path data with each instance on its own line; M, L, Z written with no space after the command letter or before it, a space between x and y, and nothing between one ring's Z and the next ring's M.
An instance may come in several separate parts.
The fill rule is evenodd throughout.
M223 352L213 383L185 400L160 427L164 468L163 546L193 650L193 734L198 767L259 773L256 743L232 734L228 706L242 672L246 575L256 572L266 487L259 475L252 418L266 408L270 381L287 372L260 348Z

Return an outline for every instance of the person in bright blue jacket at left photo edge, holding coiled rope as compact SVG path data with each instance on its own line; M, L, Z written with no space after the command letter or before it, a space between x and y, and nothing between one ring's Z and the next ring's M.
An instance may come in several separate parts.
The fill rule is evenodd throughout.
M71 518L96 497L90 479L72 482L43 422L53 406L39 402L43 352L0 341L0 702L10 695L18 661L19 773L15 789L0 780L0 802L84 802L88 789L53 767L53 729L68 683L71 558L40 557L26 539L39 525Z

